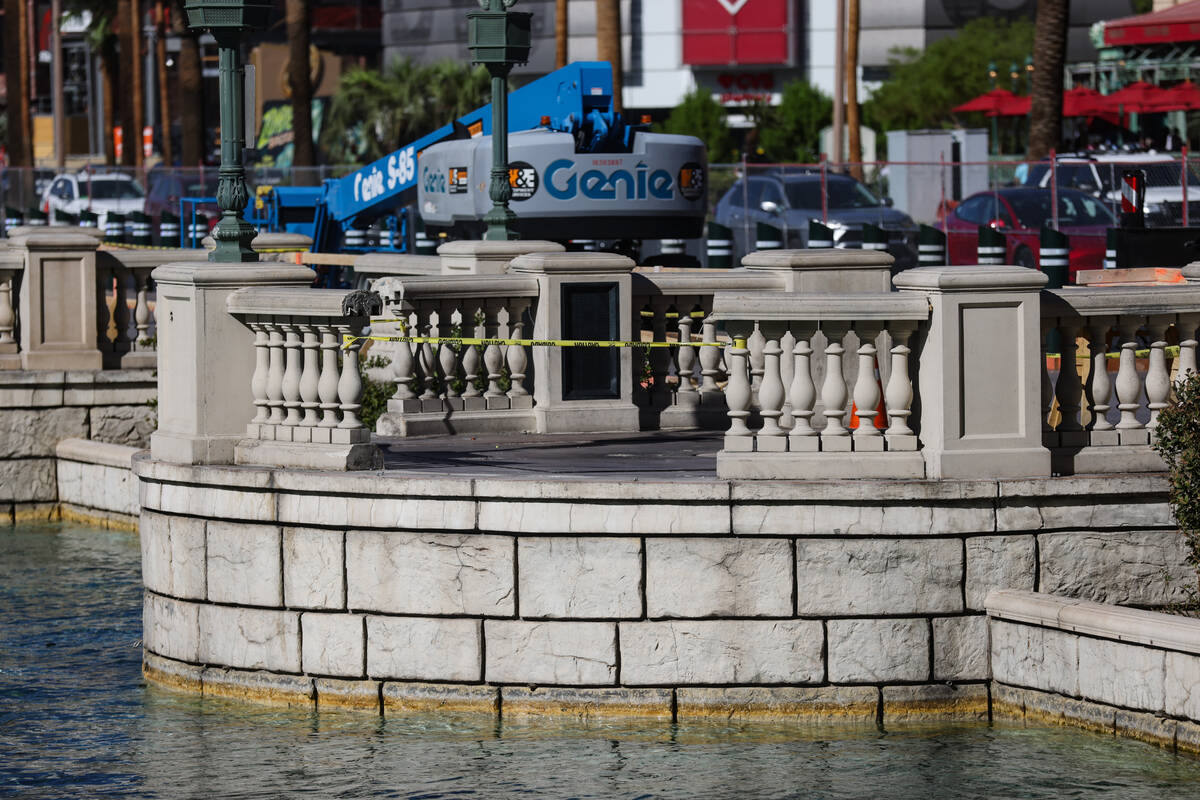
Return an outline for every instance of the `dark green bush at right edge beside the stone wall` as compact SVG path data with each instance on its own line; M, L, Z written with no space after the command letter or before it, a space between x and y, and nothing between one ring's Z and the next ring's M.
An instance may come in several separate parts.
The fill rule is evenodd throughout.
M1158 414L1154 450L1170 470L1168 499L1180 534L1187 540L1188 564L1200 575L1200 375L1175 385L1175 402Z

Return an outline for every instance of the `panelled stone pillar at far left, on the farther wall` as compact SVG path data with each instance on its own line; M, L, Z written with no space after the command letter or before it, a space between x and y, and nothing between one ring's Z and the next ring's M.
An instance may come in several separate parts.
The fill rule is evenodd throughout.
M23 369L101 369L96 331L96 247L76 229L10 240L25 259L20 289Z

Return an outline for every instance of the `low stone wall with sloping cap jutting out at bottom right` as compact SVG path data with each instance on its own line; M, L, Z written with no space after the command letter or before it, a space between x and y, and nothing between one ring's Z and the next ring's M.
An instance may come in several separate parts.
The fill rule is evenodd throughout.
M1200 752L1200 620L1028 591L986 606L996 714Z

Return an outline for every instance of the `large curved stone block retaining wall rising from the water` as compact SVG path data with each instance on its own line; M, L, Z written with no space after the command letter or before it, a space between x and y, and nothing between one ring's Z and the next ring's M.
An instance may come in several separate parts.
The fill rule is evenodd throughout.
M1160 476L134 471L148 674L318 704L979 718L990 589L1154 604L1189 573Z

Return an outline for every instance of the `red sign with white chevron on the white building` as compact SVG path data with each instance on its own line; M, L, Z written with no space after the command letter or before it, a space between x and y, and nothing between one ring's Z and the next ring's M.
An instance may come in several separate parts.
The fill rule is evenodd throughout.
M683 0L683 61L791 64L791 0Z

